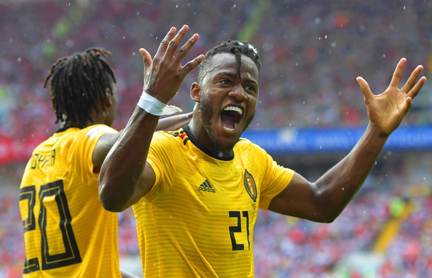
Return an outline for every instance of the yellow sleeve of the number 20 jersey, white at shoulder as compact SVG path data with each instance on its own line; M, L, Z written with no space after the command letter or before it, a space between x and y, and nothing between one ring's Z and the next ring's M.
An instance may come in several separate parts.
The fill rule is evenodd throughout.
M97 181L98 173L93 173L93 151L100 137L106 133L118 133L115 129L106 125L94 125L82 129L69 149L69 161L72 171L84 184L93 185Z

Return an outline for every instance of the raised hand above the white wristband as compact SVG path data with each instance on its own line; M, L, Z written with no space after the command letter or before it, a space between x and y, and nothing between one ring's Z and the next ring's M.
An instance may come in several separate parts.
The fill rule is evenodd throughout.
M188 42L177 51L188 30L188 25L184 25L176 35L176 28L171 27L153 59L147 50L140 49L144 64L143 90L163 103L167 103L174 97L186 75L204 59L204 55L201 54L184 66L181 65L199 38L198 34L193 34Z

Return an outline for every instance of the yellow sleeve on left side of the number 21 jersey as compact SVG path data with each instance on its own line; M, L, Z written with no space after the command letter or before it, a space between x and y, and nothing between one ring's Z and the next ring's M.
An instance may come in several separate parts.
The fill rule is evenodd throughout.
M181 160L175 138L165 132L155 132L148 150L147 162L156 175L151 190L145 195L149 201L162 197L175 184L176 163Z

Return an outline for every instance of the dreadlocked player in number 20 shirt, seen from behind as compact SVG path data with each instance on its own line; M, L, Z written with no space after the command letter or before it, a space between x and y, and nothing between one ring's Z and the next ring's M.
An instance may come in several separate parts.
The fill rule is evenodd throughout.
M61 126L33 151L20 185L24 277L121 277L117 214L103 209L97 191L103 159L121 134L110 128L116 78L107 55L89 48L60 58L45 79ZM165 118L157 129L176 130L190 116Z

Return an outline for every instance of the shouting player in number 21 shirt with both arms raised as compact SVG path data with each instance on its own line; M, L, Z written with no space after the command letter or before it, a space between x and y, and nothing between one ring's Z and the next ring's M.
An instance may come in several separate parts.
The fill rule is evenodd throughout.
M315 182L278 166L241 133L255 113L260 62L250 44L228 41L181 65L198 39L181 46L188 26L171 28L154 58L144 58L144 93L99 175L99 200L110 211L132 205L144 277L253 277L253 229L258 208L330 223L371 171L386 139L426 81L398 84L401 59L390 86L375 95L357 81L370 123L355 147ZM177 50L178 49L178 50ZM155 129L160 111L197 65L189 125ZM161 104L162 103L162 104Z

